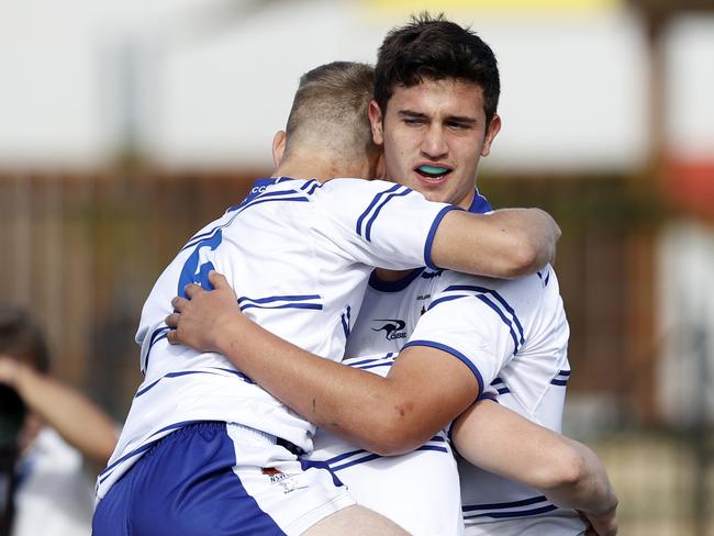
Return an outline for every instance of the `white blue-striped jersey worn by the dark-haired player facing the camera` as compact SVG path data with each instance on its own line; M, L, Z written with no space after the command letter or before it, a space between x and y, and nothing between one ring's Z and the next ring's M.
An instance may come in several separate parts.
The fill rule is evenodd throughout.
M370 278L346 354L439 348L470 368L481 392L497 390L503 405L560 432L568 336L551 267L512 281L420 269L393 282ZM538 491L464 460L458 467L467 535L584 531L574 512Z

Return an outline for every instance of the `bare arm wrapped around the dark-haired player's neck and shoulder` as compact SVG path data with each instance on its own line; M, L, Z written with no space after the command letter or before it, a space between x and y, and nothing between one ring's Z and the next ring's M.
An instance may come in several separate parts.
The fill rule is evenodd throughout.
M539 209L451 211L436 230L432 260L466 273L516 278L551 263L559 238L560 227Z

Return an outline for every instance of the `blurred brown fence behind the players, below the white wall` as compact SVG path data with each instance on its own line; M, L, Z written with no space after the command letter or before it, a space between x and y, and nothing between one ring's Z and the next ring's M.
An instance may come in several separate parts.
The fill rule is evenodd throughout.
M188 237L239 202L253 177L0 172L0 299L31 308L57 376L121 421L141 381L133 337L144 299ZM486 177L480 188L494 206L542 206L564 228L556 268L573 369L566 429L605 459L621 496L621 534L714 535L714 437L704 407L713 343L706 330L691 337L701 414L685 427L665 422L654 271L667 213L636 182Z

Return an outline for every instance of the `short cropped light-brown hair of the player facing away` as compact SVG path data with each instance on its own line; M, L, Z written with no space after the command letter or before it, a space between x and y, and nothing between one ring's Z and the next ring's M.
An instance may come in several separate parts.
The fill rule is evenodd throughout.
M302 131L336 129L348 146L371 148L367 111L373 88L375 68L356 62L333 62L302 75L286 127L288 147Z

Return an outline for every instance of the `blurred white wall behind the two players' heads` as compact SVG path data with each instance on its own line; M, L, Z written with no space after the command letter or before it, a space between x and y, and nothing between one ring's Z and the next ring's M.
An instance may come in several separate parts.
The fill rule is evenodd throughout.
M127 130L168 166L269 166L299 76L333 59L373 62L387 29L405 20L367 4L0 0L0 166L92 165ZM504 129L484 167L627 169L645 159L648 67L636 15L454 19L500 60ZM672 35L682 51L714 41L705 30ZM691 65L681 85L698 88L711 74ZM672 122L672 137L710 129L700 119L710 101L672 91L688 97L674 99L687 109L674 116L689 118Z

